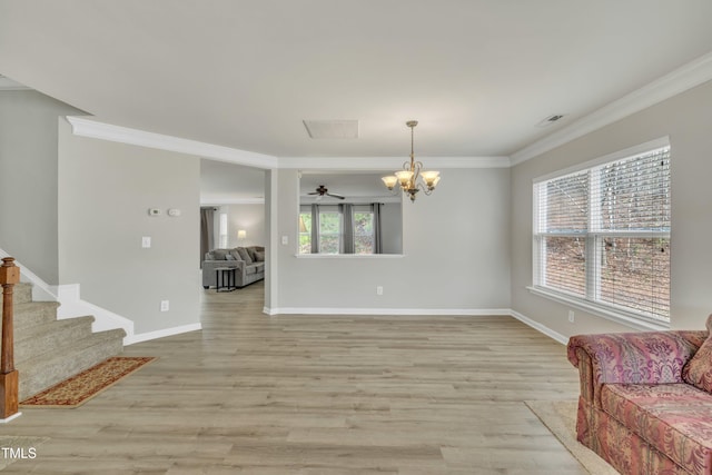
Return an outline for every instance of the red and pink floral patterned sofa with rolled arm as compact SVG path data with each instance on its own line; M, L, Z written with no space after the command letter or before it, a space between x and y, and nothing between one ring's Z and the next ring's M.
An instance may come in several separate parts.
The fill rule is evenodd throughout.
M578 335L578 442L622 474L712 474L712 315L708 331Z

